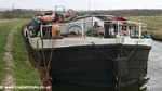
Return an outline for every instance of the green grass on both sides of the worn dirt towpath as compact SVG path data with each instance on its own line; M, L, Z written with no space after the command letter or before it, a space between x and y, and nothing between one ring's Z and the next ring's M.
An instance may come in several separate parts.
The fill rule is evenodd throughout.
M8 20L0 22L0 82L4 78L3 54L5 52L4 47L6 43L6 37L12 27L17 26L17 32L14 36L13 41L13 77L16 86L40 86L42 84L40 75L36 68L33 68L27 61L27 49L24 43L23 36L21 34L21 26L26 23L27 20ZM1 84L1 83L0 83ZM36 91L36 90L16 90L16 91Z

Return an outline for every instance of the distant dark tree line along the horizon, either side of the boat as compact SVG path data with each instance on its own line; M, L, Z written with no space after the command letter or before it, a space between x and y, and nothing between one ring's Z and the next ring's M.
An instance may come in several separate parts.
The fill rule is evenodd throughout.
M162 15L162 10L96 10L96 11L78 11L79 15L82 14L104 14L116 16L148 16L148 15ZM0 12L0 18L31 18L37 15L36 10L12 10Z

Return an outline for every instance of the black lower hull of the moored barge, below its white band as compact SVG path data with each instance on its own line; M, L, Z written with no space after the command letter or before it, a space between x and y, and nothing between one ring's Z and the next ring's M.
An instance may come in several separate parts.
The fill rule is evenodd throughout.
M48 65L52 53L50 75L53 80L116 87L119 81L120 86L125 86L145 77L150 49L147 46L80 46L39 50L41 57L38 57Z

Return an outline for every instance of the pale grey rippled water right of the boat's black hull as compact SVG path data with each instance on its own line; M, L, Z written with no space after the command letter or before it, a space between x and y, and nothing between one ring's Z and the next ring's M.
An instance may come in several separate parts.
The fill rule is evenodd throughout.
M150 79L141 88L147 88L147 91L162 91L162 42L152 41L147 78Z

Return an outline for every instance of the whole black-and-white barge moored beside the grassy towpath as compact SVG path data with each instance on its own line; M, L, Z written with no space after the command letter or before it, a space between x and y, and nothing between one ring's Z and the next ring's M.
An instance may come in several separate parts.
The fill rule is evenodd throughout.
M36 62L53 81L119 87L144 79L151 49L146 24L112 15L72 15L72 10L48 13L49 18L32 18L24 30Z

